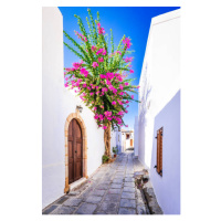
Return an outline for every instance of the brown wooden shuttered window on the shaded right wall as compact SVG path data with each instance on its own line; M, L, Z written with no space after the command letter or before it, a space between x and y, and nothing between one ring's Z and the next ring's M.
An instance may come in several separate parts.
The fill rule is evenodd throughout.
M157 130L157 172L162 176L162 127Z

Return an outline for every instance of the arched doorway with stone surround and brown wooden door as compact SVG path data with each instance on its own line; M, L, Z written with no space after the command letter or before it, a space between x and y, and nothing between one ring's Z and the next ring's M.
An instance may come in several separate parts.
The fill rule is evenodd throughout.
M74 120L73 120L74 119ZM73 122L72 122L73 120ZM72 125L72 126L70 126ZM70 144L71 139L73 139L73 143L74 143L74 138L71 138L69 137L69 134L72 135L70 133L70 129L71 127L73 128L73 126L75 125L76 127L76 131L78 135L76 135L76 146L78 145L77 148L82 148L82 156L81 156L81 159L82 159L82 164L77 164L78 167L81 165L81 169L76 169L76 177L72 177L73 175L73 171L71 172L70 168L70 151L69 149L71 148L71 146L73 146L74 144ZM74 129L73 129L74 130ZM77 179L80 179L81 177L85 177L87 178L87 136L86 136L86 126L84 124L84 120L82 118L82 116L80 115L78 110L76 109L76 113L72 113L69 115L69 117L66 118L66 122L65 122L65 126L64 126L64 134L65 134L65 187L64 187L64 192L69 192L70 191L70 183L76 181ZM75 136L75 135L74 135ZM80 139L78 138L81 137L81 140L82 140L82 144L80 145ZM69 141L70 140L70 141ZM72 141L71 141L72 143ZM70 147L70 148L69 148ZM73 148L74 151L72 151L72 156L73 156L73 161L74 161L74 154L75 154L75 149ZM77 150L76 150L77 151ZM76 152L77 154L77 152ZM73 162L74 164L74 162ZM74 168L75 166L73 165L72 168ZM76 166L77 167L77 166ZM78 172L78 173L77 173ZM75 179L75 180L74 180ZM74 181L73 181L74 180Z

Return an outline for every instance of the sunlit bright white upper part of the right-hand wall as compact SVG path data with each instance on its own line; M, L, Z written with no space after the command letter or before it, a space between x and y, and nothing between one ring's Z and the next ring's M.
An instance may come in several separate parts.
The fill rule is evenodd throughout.
M150 167L154 118L180 88L179 10L152 18L139 88L139 159Z

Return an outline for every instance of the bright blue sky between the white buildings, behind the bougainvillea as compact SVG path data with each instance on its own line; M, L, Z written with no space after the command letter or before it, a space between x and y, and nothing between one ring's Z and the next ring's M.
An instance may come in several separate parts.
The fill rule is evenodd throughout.
M90 7L94 19L96 12L99 11L101 24L105 29L105 33L109 34L109 29L113 30L114 42L117 45L122 36L125 34L131 39L131 54L134 61L131 63L134 74L131 78L137 78L133 82L134 85L139 84L139 76L141 74L143 60L146 50L147 38L149 33L149 25L152 17L173 11L179 7ZM74 39L74 30L80 31L76 18L77 14L82 18L85 27L86 17L88 18L86 7L59 7L63 14L64 30ZM70 43L66 39L65 42ZM130 55L129 55L130 56ZM64 67L72 66L73 62L80 61L70 50L64 48ZM134 94L138 99L138 95ZM138 103L133 102L129 104L128 113L124 116L125 124L128 128L134 128L135 116L138 115Z

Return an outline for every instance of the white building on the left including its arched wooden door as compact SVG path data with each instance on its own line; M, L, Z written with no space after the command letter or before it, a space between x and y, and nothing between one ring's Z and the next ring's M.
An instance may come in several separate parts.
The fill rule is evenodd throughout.
M42 208L45 208L102 165L105 147L104 130L97 127L94 114L64 87L60 10L43 8L42 20ZM76 108L78 105L82 113Z

